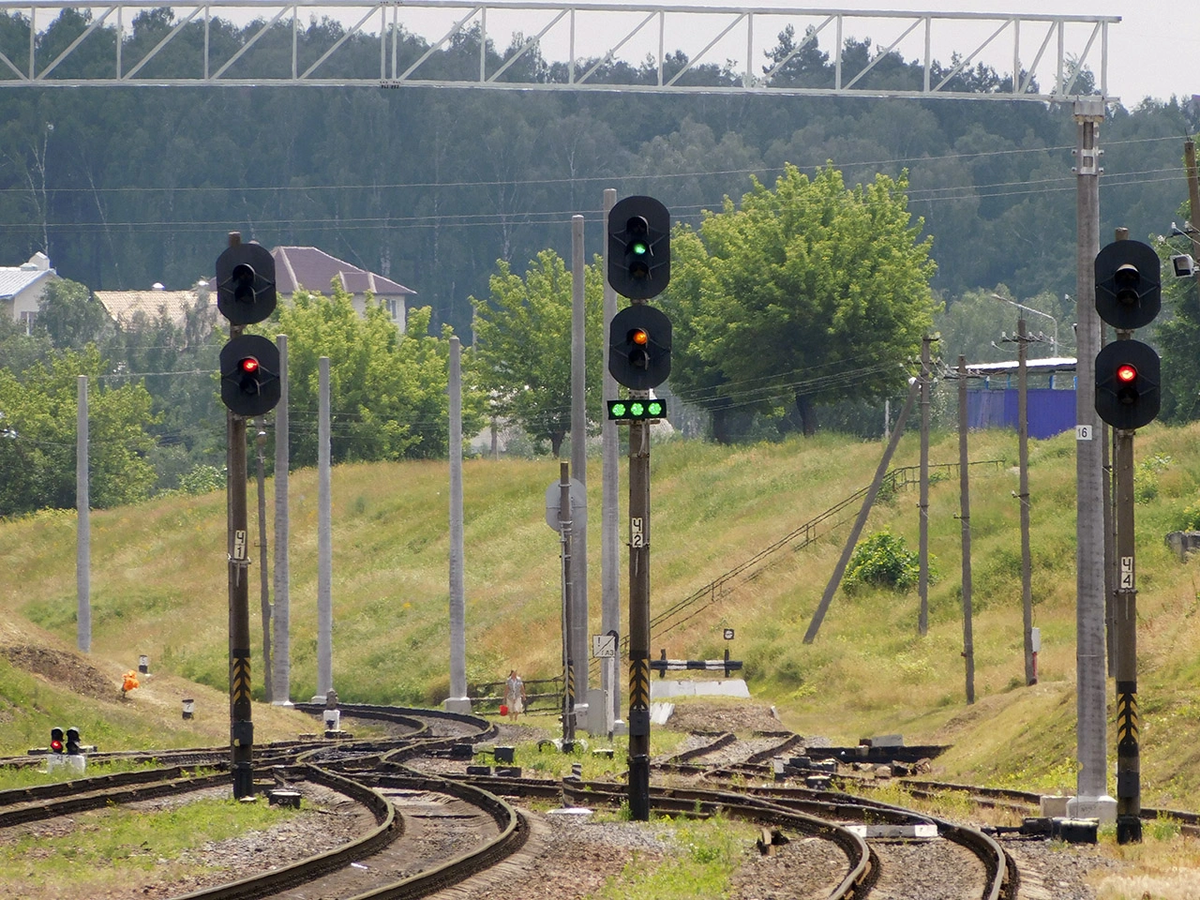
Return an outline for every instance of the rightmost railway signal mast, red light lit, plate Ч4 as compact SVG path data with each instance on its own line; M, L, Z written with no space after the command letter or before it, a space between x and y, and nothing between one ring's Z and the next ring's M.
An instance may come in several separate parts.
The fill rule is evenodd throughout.
M1117 842L1141 841L1138 590L1134 577L1133 436L1158 415L1158 354L1133 340L1162 305L1160 263L1146 244L1117 240L1096 256L1096 311L1117 340L1096 356L1096 412L1114 428L1116 480Z

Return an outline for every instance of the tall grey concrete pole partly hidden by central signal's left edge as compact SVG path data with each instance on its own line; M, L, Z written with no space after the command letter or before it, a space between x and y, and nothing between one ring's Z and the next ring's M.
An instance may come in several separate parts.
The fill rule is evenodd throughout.
M604 192L604 235L605 278L604 278L604 398L617 397L617 379L608 371L608 342L612 317L617 314L617 292L608 283L608 211L617 203L617 191L612 187ZM602 456L602 484L600 510L600 630L604 634L620 635L620 440L617 436L617 422L604 416L600 422L600 445ZM617 638L620 647L620 638ZM616 662L604 666L601 689L608 697L612 709L613 727L620 730L620 679L617 678Z

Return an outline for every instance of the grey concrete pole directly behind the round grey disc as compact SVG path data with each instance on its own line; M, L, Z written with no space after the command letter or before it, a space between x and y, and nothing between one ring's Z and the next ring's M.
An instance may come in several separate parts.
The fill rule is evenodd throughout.
M571 475L588 485L587 335L583 290L583 216L571 216ZM587 503L587 491L583 492ZM586 516L571 528L571 659L575 696L588 696L588 524Z

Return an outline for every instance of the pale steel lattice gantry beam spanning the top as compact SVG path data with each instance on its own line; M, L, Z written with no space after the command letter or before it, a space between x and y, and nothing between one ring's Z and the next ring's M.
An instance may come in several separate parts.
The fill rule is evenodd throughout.
M499 90L670 91L911 98L1066 101L1108 92L1109 26L1115 16L973 12L839 11L622 2L473 2L472 0L206 0L162 5L88 0L0 1L0 88L84 85L439 86ZM310 29L310 24L316 29ZM332 25L325 28L326 25ZM791 26L790 54L763 71L764 50ZM313 36L322 31L319 36ZM439 50L478 40L479 65L446 74ZM850 37L875 41L865 67L845 71ZM418 49L410 38L419 37ZM488 43L512 41L496 58ZM378 71L359 66L361 44L378 44ZM823 42L833 78L797 86L776 79L805 49ZM962 53L962 48L972 49ZM354 50L354 61L349 61ZM473 46L474 49L474 46ZM935 64L935 53L953 65ZM685 64L676 50L686 54ZM520 66L530 53L566 60ZM877 64L898 53L922 66L919 89L872 86ZM97 64L102 60L102 65ZM342 64L346 60L344 65ZM614 83L606 64L650 61L656 77ZM979 64L1012 68L1008 90L955 88ZM718 65L724 85L689 84L702 65ZM103 71L107 70L107 71ZM532 70L532 71L530 71ZM632 70L630 70L631 72ZM628 77L628 76L626 76Z

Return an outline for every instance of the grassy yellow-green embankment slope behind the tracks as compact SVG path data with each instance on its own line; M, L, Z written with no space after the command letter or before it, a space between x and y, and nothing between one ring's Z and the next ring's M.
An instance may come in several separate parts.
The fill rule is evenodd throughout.
M1196 564L1180 563L1163 534L1196 503L1200 427L1147 428L1139 457L1139 650L1144 802L1194 806L1200 788L1200 624ZM880 444L836 436L727 449L668 442L653 457L653 608L662 610L864 487ZM1015 436L971 438L972 460L1002 460L972 480L976 697L965 703L961 524L958 479L934 485L930 548L937 580L930 629L917 635L914 593L839 594L816 642L802 636L841 551L845 524L815 545L776 553L762 574L685 626L652 637L655 654L713 658L721 628L737 629L757 698L784 722L835 742L902 732L908 743L954 743L940 774L1050 790L1074 785L1074 440L1033 442L1034 624L1042 683L1022 685ZM935 434L931 460L954 462L958 440ZM905 437L894 464L913 464ZM622 466L624 473L624 462ZM466 466L468 677L527 678L557 668L558 539L544 520L557 462ZM598 630L600 466L588 479L589 596ZM292 696L316 683L316 473L293 475ZM623 488L624 494L624 488ZM445 463L344 466L334 472L334 672L349 701L439 703L448 690L448 475ZM917 546L916 488L888 498L866 533L888 528ZM622 502L624 508L624 499ZM857 510L851 510L853 515ZM257 533L252 526L252 534ZM53 724L78 724L103 745L221 744L228 736L224 496L160 499L92 516L92 652L74 646L74 518L43 514L0 524L6 577L2 643L54 648L92 666L88 691L28 659L0 661L0 752L44 743ZM623 526L624 536L624 526ZM257 553L252 554L257 560ZM623 554L624 556L624 554ZM252 634L260 660L258 574L251 568ZM624 580L623 580L624 583ZM151 658L155 678L120 701L119 674ZM30 668L42 672L31 674ZM258 672L256 671L256 678ZM197 683L199 686L197 686ZM198 715L180 721L193 695ZM256 709L260 739L308 720ZM66 720L71 721L67 722ZM1111 744L1112 742L1110 742Z

